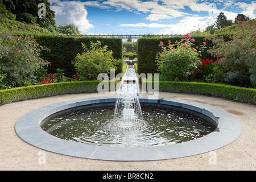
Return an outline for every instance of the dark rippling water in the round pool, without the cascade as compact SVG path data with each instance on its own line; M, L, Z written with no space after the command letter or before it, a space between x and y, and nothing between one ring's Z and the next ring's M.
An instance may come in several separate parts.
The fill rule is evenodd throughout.
M119 130L112 125L114 107L72 111L43 122L42 129L65 140L118 147L148 147L197 139L216 127L192 114L171 109L142 107L146 125L138 130Z

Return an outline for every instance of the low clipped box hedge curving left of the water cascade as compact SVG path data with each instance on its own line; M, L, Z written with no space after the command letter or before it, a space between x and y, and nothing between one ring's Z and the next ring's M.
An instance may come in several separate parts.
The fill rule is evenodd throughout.
M71 93L95 93L101 81L72 81L0 90L0 105Z

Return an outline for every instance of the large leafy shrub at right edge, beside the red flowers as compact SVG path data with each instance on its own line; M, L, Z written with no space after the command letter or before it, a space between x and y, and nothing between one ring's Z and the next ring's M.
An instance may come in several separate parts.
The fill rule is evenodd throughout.
M220 82L236 86L256 87L256 20L238 23L230 32L229 40L222 36L212 36L213 48L209 53L220 56L217 77ZM221 75L221 76L220 76Z

